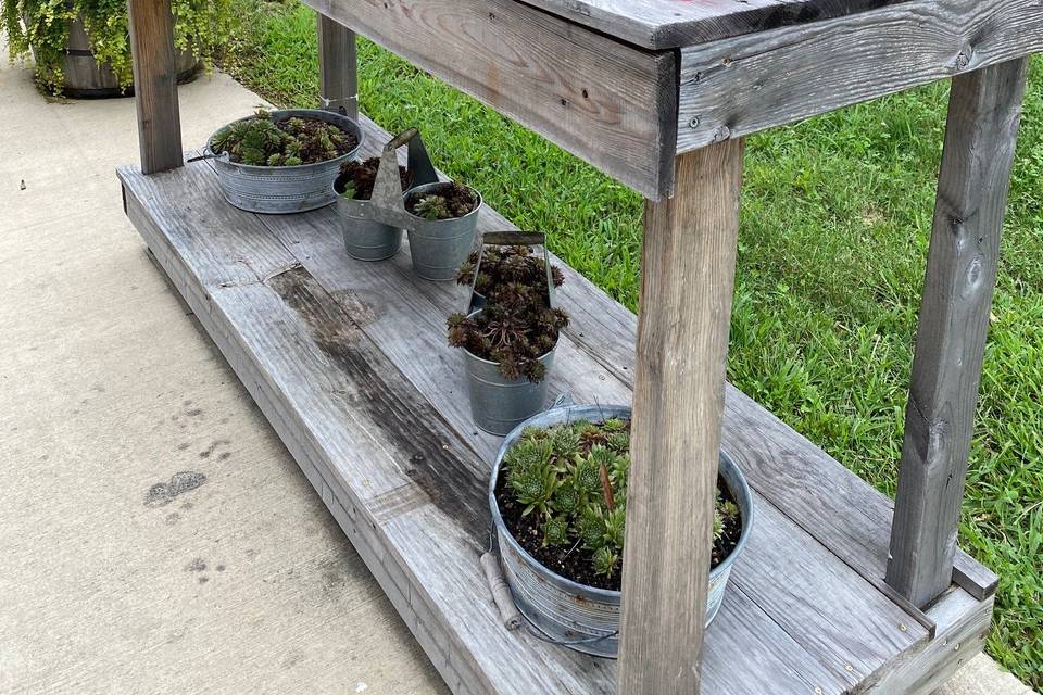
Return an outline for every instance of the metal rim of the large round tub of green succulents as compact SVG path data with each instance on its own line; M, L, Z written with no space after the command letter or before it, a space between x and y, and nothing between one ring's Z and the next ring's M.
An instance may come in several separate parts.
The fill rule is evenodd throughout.
M503 517L500 514L500 505L497 503L497 481L500 478L500 467L503 464L503 457L507 453L507 450L511 448L511 445L514 444L514 441L517 440L518 435L528 427L529 422L535 418L543 417L558 417L558 422L567 422L569 420L568 416L571 415L575 410L601 410L603 414L605 412L614 413L620 415L623 413L627 414L627 417L630 416L631 408L627 405L565 405L556 408L551 408L543 410L533 415L531 418L519 424L513 430L511 430L504 438L503 443L500 445L500 450L497 452L497 459L492 466L492 473L489 478L489 510L492 515L492 522L497 529L497 534L501 539L506 539L512 549L518 553L526 563L538 566L543 569L544 572L550 574L556 582L558 582L567 591L576 592L582 591L589 595L596 596L606 603L618 603L623 592L614 591L611 589L599 589L598 586L590 586L588 584L580 584L577 581L562 577L554 570L550 569L543 563L540 563L535 557L529 555L528 551L522 547L522 544L518 543L517 539L514 538L514 534L511 533L511 530L507 529L506 523L503 521ZM612 417L612 415L603 417ZM720 475L721 469L730 468L732 472L736 473L734 482L738 483L739 490L733 490L729 481L725 481L725 484L728 485L729 492L732 496L736 497L736 502L740 502L740 498L746 501L747 514L742 516L742 532L739 535L739 542L736 543L736 547L731 548L731 553L728 554L717 567L715 567L709 572L708 580L713 581L717 577L725 574L731 569L731 566L734 564L736 559L742 554L742 551L746 546L746 542L750 540L750 532L753 528L753 518L754 518L754 506L753 506L753 492L750 489L750 483L746 481L746 477L743 475L739 466L736 465L736 462L731 458L731 455L728 454L722 447L718 450L718 463L717 470Z

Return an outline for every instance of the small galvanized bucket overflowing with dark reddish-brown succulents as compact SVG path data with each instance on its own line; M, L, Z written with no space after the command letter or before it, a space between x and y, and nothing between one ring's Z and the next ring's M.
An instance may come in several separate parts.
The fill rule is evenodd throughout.
M481 309L473 312L477 316ZM551 374L554 366L553 350L539 358ZM482 359L469 350L464 350L464 366L467 370L467 395L470 399L470 416L482 431L503 437L519 422L543 409L546 404L546 377L532 383L525 377L507 379L500 374L499 363Z

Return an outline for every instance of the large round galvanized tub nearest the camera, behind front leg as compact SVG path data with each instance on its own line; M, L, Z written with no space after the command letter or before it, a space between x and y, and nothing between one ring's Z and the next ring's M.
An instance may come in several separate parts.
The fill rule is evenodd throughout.
M503 457L526 428L548 428L577 420L600 422L613 417L629 419L630 408L623 405L568 405L546 410L522 422L503 440L489 480L489 509L497 530L500 564L518 610L548 637L578 652L611 658L615 658L619 648L620 593L579 584L540 565L504 526L495 491ZM753 495L750 486L742 471L724 451L720 452L718 472L739 505L742 535L731 555L709 573L707 626L720 609L731 567L742 554L753 526Z

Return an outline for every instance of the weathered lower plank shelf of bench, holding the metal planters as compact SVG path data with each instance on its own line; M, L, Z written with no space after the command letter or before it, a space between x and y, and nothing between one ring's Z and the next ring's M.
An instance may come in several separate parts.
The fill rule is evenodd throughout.
M363 127L376 154L387 134ZM206 161L118 176L127 215L450 688L612 693L614 661L505 631L489 596L478 557L499 439L473 426L444 340L465 289L415 277L405 249L353 261L331 208L235 210ZM492 210L479 227L512 228ZM573 320L551 391L629 403L634 317L562 268ZM757 523L707 633L703 693L929 693L981 649L989 570L960 554L921 614L883 584L887 497L730 387L724 446Z

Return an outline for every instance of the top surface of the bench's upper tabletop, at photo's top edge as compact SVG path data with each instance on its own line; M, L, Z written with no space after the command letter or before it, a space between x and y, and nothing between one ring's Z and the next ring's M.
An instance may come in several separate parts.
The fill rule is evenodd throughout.
M903 0L526 0L628 43L665 49L840 17Z

